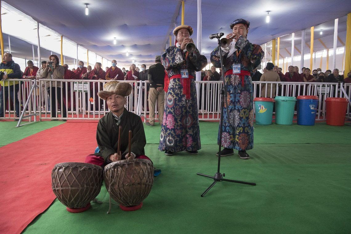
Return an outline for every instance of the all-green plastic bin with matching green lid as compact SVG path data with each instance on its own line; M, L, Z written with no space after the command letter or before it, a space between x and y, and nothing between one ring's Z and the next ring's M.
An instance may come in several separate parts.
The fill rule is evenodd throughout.
M276 124L292 125L296 98L276 96Z

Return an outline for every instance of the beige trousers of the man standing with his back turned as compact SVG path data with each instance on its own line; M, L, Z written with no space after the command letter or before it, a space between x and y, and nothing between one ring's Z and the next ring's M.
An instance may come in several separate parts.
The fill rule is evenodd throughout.
M157 100L157 111L158 111L158 119L160 124L162 123L163 113L165 111L165 91L161 89L161 91L157 91L155 88L150 88L149 90L149 123L151 125L155 124L155 106Z

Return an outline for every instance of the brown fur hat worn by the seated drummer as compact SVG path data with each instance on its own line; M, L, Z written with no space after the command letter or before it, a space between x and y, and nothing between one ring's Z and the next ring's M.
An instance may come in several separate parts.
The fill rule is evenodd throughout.
M127 82L118 82L117 80L105 83L104 91L98 92L101 99L106 100L112 94L128 96L132 92L132 86Z

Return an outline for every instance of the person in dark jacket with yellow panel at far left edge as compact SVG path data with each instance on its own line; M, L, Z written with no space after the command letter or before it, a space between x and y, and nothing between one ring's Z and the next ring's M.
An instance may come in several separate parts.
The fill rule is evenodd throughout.
M12 54L5 53L4 56L2 56L2 63L0 64L0 85L2 86L0 91L0 117L4 117L4 112L5 112L4 100L6 103L8 94L10 94L11 100L14 101L15 103L16 117L19 117L20 104L18 101L18 90L19 90L18 81L6 81L6 80L20 79L20 78L21 78L20 66L12 60ZM15 96L15 100L13 100L13 96Z

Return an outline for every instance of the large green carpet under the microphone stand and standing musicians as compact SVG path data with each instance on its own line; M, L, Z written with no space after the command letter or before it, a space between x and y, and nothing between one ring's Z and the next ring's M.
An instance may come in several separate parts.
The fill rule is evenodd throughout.
M92 203L71 214L58 200L25 233L350 233L350 126L257 126L250 160L221 159L225 179L257 186L213 182L197 172L217 172L218 123L201 122L202 149L165 156L158 144L146 155L162 173L155 178L142 209L124 212L108 203ZM158 140L159 127L145 127ZM306 143L310 144L306 144ZM318 143L323 142L323 143ZM277 144L272 144L277 143ZM97 198L108 202L105 186Z

